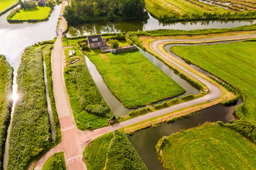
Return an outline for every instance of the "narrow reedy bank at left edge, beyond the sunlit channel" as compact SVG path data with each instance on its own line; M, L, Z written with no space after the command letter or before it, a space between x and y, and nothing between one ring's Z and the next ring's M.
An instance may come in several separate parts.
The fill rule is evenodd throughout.
M2 169L6 133L11 114L13 72L3 55L0 55L0 70L0 169Z

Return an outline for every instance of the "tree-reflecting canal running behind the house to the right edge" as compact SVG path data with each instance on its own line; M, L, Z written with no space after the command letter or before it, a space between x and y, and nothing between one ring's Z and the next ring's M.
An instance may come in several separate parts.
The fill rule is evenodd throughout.
M131 19L126 21L92 22L84 24L69 25L67 36L82 36L104 33L123 33L129 31L147 31L155 29L209 29L209 28L233 28L244 25L255 24L256 20L233 20L233 21L183 21L172 23L161 23L149 15L149 19Z

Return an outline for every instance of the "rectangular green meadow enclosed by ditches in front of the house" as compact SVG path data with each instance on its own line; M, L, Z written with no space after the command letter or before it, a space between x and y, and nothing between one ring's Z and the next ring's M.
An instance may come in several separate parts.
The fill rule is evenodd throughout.
M113 95L127 108L145 106L185 93L139 50L88 57Z

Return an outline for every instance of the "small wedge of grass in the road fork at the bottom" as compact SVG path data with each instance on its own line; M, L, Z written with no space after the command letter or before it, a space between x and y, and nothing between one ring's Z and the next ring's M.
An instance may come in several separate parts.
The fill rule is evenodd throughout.
M64 152L58 152L52 155L44 163L42 170L66 170Z

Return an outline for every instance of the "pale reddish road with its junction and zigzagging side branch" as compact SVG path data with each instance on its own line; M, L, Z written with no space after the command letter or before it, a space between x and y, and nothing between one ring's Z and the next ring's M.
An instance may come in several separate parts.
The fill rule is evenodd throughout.
M64 28L65 26L65 19L62 20L60 23L60 27ZM256 37L256 35L242 35L242 36L233 36L233 37L225 37L225 38L212 38L212 39L198 39L198 40L177 40L177 39L167 39L167 40L156 40L151 42L150 47L151 49L158 53L159 56L165 58L172 62L176 67L181 68L191 76L195 77L199 81L202 81L206 84L209 88L209 92L207 95L197 98L192 101L188 101L185 103L180 103L175 106L161 109L156 112L148 113L127 121L123 121L118 124L114 124L112 126L107 126L101 129L91 130L91 131L80 131L76 128L73 114L71 111L68 95L65 89L65 82L63 77L63 61L64 61L64 51L61 37L57 37L57 40L54 44L53 51L52 51L52 80L53 80L53 91L54 97L57 107L57 112L59 116L60 126L62 130L62 142L60 142L57 146L50 149L37 163L35 170L41 170L43 164L46 160L56 152L64 151L65 153L65 161L68 170L86 170L86 165L84 164L83 159L83 151L85 145L93 140L96 137L99 137L103 134L111 132L113 130L117 130L129 125L133 125L135 123L139 123L141 121L157 117L181 108L186 108L189 106L193 106L194 104L198 104L205 101L214 100L222 95L221 91L218 89L217 86L210 83L207 80L199 77L197 74L194 74L190 70L186 69L185 67L181 66L174 60L167 57L162 51L158 49L158 45L163 42L189 42L189 41L217 41L217 40L226 40L226 39L241 39L241 38L251 38Z

